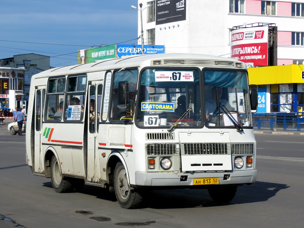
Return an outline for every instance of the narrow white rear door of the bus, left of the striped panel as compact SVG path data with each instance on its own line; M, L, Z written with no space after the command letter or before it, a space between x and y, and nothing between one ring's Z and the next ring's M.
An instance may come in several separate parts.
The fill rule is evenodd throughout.
M44 99L46 89L44 86L38 86L35 92L35 150L34 150L34 172L44 172L44 162L42 159L42 119L44 112Z

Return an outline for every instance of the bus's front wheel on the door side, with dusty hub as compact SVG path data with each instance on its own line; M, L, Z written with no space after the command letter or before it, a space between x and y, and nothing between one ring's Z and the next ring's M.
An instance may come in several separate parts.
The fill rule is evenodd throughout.
M121 162L117 163L115 168L114 190L117 201L122 208L134 209L140 206L142 196L138 189L130 189L126 170Z

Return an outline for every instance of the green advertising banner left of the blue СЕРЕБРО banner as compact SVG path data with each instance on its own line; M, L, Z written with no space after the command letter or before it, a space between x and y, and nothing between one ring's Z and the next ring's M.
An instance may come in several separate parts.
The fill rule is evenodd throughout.
M101 59L115 58L115 44L78 51L78 64L94 63Z

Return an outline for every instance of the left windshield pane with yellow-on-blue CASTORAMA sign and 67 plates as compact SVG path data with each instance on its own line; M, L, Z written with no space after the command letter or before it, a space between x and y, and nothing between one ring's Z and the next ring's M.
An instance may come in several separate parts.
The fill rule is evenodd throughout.
M188 110L188 112L186 112ZM199 71L146 69L142 73L137 124L144 127L201 125Z

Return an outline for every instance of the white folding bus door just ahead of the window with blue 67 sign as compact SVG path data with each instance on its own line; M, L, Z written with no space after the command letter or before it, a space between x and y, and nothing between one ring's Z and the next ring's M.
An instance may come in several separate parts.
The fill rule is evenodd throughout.
M92 81L88 88L88 156L87 156L87 181L98 183L101 180L101 170L98 153L98 124L102 101L101 81Z

